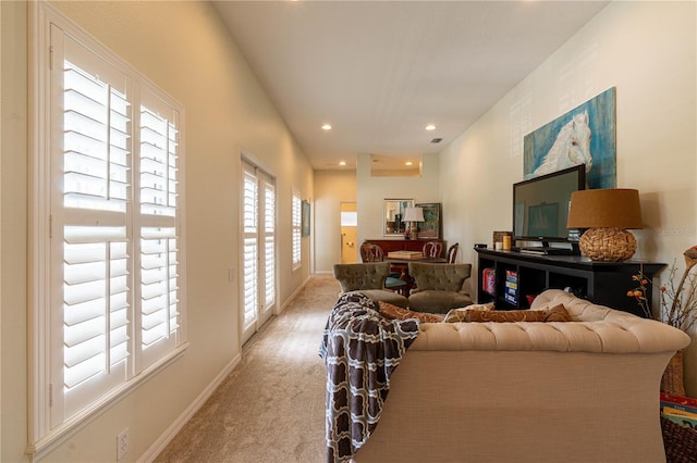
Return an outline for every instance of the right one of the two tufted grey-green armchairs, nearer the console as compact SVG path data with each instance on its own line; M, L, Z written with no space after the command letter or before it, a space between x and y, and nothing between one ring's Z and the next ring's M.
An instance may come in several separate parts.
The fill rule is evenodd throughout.
M472 300L472 264L429 264L409 262L409 275L416 283L408 298L416 312L448 313L466 306Z

